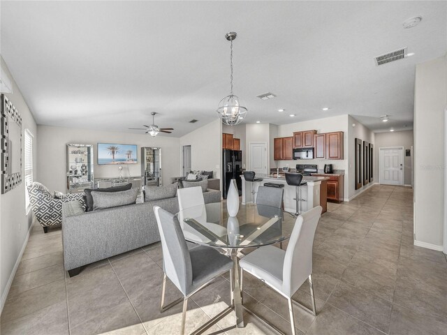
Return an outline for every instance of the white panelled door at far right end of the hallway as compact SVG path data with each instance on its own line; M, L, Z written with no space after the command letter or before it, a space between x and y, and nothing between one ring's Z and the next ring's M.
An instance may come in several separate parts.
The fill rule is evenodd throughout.
M379 183L404 185L404 148L379 149Z

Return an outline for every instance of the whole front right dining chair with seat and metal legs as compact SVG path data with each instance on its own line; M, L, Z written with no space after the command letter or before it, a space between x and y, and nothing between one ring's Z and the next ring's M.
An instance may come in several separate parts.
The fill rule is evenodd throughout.
M322 207L300 214L296 219L286 250L274 246L262 246L240 260L241 292L244 271L261 279L288 300L288 311L291 318L292 334L295 335L295 320L293 319L292 296L300 286L309 279L312 296L312 311L316 315L314 285L312 282L312 246L316 225L321 217Z

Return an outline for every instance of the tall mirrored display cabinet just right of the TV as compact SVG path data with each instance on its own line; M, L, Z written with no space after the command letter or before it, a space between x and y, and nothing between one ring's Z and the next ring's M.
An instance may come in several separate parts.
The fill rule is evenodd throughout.
M141 148L141 174L145 186L161 186L161 148Z

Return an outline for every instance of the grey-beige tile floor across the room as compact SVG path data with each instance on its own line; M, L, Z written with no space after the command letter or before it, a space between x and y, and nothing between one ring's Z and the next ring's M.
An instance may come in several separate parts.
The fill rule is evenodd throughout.
M295 308L297 334L447 334L447 260L413 246L409 188L372 186L355 200L328 204L314 241L318 315ZM286 247L284 245L284 247ZM89 265L69 278L61 231L34 225L1 315L1 334L177 334L181 305L159 312L161 246ZM186 330L229 303L228 276L190 299ZM291 333L286 300L244 278L244 304ZM179 297L173 285L168 301ZM310 304L307 283L294 299ZM227 315L207 334L272 334L248 314Z

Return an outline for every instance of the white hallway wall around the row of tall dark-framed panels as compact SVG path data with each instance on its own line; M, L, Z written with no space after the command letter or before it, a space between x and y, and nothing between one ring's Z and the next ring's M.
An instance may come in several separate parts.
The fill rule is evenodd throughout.
M362 140L362 141L366 141L369 143L374 144L374 148L376 147L376 144L374 142L374 133L372 131L369 130L369 128L363 126L362 124L360 124L359 121L357 121L356 119L354 119L353 117L351 117L351 115L349 115L349 119L348 119L348 129L349 129L349 140L347 142L347 148L345 148L345 152L346 149L348 149L348 163L349 163L349 180L348 180L348 187L349 188L345 188L345 193L346 190L348 190L348 195L349 195L349 199L351 200L353 197L355 197L358 193L364 191L366 188L368 188L369 186L372 186L374 183L377 182L376 179L374 179L374 181L372 183L366 184L365 186L362 185L362 187L360 187L358 190L356 190L356 138ZM355 127L353 127L353 124L356 124ZM346 146L346 142L344 143ZM377 161L377 157L374 154L373 160ZM375 164L375 163L374 163ZM374 165L375 166L375 165ZM346 176L345 176L346 178ZM344 181L345 185L346 185L346 180ZM346 195L345 195L346 197Z

